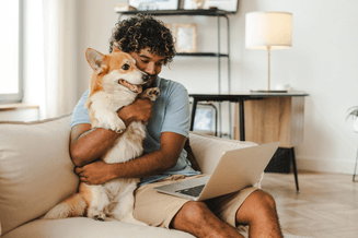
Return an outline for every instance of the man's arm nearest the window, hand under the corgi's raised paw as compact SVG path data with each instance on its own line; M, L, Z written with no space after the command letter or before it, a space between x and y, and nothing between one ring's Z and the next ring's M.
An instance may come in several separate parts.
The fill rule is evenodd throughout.
M132 121L148 121L152 117L152 102L137 99L134 104L122 108L118 117L128 127ZM119 138L120 134L96 128L91 130L91 124L82 123L72 127L70 138L70 154L76 166L84 166L100 158Z

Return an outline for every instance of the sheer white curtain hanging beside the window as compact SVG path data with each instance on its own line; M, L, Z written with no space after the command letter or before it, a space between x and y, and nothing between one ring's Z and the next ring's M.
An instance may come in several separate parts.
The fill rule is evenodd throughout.
M39 105L41 118L77 103L76 1L25 1L24 102Z

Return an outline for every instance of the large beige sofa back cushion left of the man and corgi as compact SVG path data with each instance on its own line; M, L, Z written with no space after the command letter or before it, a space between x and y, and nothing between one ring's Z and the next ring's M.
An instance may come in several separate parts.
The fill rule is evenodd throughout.
M2 235L44 215L77 191L69 155L71 116L31 123L0 122Z

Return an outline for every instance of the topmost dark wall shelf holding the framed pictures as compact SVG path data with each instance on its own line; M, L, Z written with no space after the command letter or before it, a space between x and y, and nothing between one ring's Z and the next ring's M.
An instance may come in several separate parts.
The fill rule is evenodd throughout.
M135 15L138 13L146 13L151 15L207 15L207 16L226 16L227 14L234 14L235 12L228 12L217 9L208 10L159 10L159 11L127 11L127 12L117 12L124 15Z

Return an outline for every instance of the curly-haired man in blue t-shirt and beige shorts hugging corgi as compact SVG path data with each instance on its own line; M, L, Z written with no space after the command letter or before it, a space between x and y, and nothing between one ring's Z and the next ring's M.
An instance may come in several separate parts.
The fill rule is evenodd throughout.
M189 130L187 92L183 85L158 76L162 66L175 56L173 37L163 23L139 14L117 25L109 51L114 41L150 76L146 87L157 86L161 95L154 103L137 99L118 111L126 126L132 121L148 122L145 154L122 164L97 159L120 134L102 128L91 130L88 110L83 108L88 92L82 96L73 111L70 143L80 180L101 185L114 178L141 178L135 192L134 215L151 226L174 228L196 237L242 237L234 227L243 224L250 225L251 237L281 237L275 201L259 189L247 188L206 202L153 190L199 174L192 168L183 150Z

